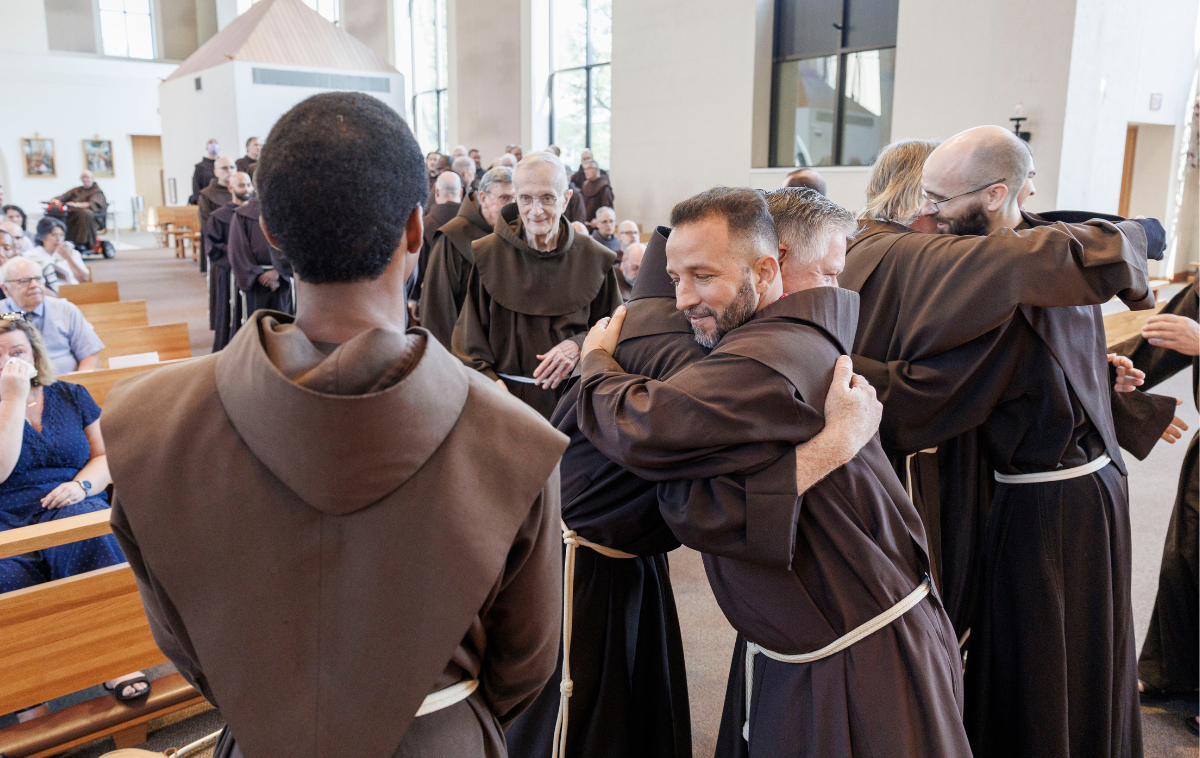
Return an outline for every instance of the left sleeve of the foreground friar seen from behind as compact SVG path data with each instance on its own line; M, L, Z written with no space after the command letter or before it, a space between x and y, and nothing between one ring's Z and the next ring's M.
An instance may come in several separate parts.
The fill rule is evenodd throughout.
M113 536L130 561L133 570L133 578L138 584L138 594L142 596L142 607L145 609L146 620L150 622L150 631L154 634L155 644L162 654L175 664L187 684L199 690L209 703L217 705L212 697L212 688L200 668L199 656L192 646L191 637L184 626L182 616L175 609L170 597L162 585L155 580L154 573L142 559L142 551L138 548L137 539L130 527L125 511L121 507L120 497L113 497L113 512L109 516Z

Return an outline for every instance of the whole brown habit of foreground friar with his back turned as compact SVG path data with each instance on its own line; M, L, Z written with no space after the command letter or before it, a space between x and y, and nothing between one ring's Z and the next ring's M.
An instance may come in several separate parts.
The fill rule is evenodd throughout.
M155 640L246 758L502 758L554 667L566 439L422 330L326 356L289 321L109 396Z

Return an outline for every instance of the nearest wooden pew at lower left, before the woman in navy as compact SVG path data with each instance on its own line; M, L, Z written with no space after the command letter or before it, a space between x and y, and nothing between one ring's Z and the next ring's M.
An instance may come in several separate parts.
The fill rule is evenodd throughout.
M109 511L0 533L0 558L107 534ZM166 662L150 633L128 564L0 595L0 712L71 694ZM112 735L116 746L146 739L146 723L204 702L172 674L148 698L112 694L0 729L0 754L41 758Z

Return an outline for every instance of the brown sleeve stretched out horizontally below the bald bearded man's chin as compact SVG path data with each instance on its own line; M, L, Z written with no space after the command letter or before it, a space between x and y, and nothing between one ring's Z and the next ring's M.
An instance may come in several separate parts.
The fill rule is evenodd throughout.
M888 257L905 357L949 350L1003 325L1018 306L1153 305L1138 222L1054 223L986 236L906 234Z

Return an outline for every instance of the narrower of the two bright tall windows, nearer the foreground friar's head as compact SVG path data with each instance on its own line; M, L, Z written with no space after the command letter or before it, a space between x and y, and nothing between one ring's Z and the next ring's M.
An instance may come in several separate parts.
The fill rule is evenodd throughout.
M446 2L409 0L413 30L413 131L421 150L446 151Z

